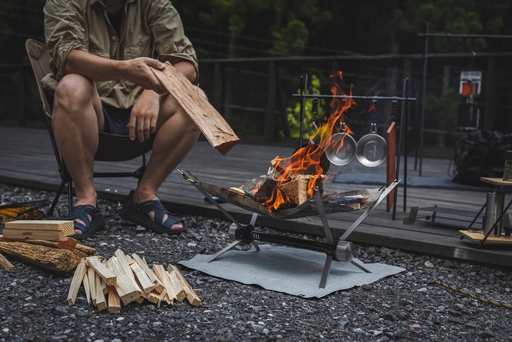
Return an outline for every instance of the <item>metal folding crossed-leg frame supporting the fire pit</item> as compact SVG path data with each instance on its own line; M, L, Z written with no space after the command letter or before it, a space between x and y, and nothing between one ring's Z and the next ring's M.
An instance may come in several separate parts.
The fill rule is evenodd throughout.
M324 289L327 283L327 276L329 275L329 271L331 268L332 260L335 261L343 261L346 263L350 263L362 271L367 273L371 273L362 262L355 261L354 257L354 244L352 242L347 241L348 236L359 226L359 224L364 220L370 213L379 205L380 202L398 185L399 180L394 180L388 183L387 188L384 189L382 187L382 193L378 197L375 202L368 207L355 221L354 223L340 236L339 239L334 239L332 237L331 228L329 227L329 223L327 221L327 215L324 209L324 205L322 203L322 196L318 190L318 188L314 189L314 200L316 201L316 205L318 207L318 214L322 220L322 226L325 233L326 242L315 242L311 240L305 240L301 238L294 238L289 236L276 235L266 232L260 232L254 230L254 225L256 223L256 219L258 218L258 213L253 212L252 217L249 224L241 224L238 222L236 218L234 218L226 209L224 209L206 190L201 187L201 184L198 182L198 179L189 172L183 172L178 170L183 178L188 180L190 183L194 185L194 187L199 190L206 198L210 200L212 204L214 204L226 217L231 220L232 224L229 227L229 237L232 240L232 243L221 249L215 254L212 254L208 259L207 263L214 261L220 255L229 251L231 248L244 243L252 245L257 251L260 250L257 240L264 241L273 244L281 244L289 247L295 248L303 248L312 251L323 252L326 254L326 260L324 264L324 269L322 271L322 277L320 280L319 288ZM313 198L312 197L312 198Z

